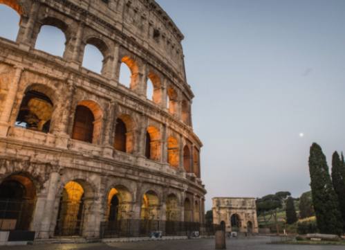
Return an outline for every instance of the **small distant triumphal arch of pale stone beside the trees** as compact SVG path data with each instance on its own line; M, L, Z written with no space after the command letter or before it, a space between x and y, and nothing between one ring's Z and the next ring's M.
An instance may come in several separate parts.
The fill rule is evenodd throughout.
M227 232L259 233L254 198L213 198L213 223L225 223Z

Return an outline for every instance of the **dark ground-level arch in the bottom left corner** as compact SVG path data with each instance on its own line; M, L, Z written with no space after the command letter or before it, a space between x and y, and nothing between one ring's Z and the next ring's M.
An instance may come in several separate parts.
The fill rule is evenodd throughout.
M0 231L30 230L35 209L35 184L24 175L11 175L0 184Z

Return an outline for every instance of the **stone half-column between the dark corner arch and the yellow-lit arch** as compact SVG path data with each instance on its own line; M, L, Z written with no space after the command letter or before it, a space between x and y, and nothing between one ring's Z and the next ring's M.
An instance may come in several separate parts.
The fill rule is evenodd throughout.
M55 197L56 197L57 184L59 182L59 177L60 175L58 172L50 173L48 191L47 191L47 196L46 196L46 204L44 205L44 210L37 211L37 213L42 214L41 225L39 229L40 239L48 239L49 235L53 233L54 231L54 229L50 227L50 224L52 222L53 213L55 210L54 204L55 204Z

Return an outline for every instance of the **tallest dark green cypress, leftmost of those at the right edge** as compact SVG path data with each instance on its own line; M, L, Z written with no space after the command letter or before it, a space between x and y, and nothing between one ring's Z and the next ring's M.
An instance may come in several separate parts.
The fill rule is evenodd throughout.
M320 233L342 234L342 215L327 166L326 156L317 143L310 147L310 186Z

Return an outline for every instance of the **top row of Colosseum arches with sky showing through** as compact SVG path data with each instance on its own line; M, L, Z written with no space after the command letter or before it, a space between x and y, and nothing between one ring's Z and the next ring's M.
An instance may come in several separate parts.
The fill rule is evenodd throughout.
M19 24L22 12L17 1L0 1L0 14L0 18L6 17L7 19L14 19L17 16L16 22ZM5 22L8 23L3 20L3 23ZM10 23L13 24L13 22ZM15 40L13 27L0 30L0 36ZM18 33L19 26L15 30ZM6 33L11 34L6 35ZM64 21L57 17L44 17L39 20L39 24L33 30L32 39L34 41L32 44L37 50L63 57L66 60L75 60L86 69L101 73L106 77L113 77L110 71L116 72L115 78L120 84L133 91L145 93L148 100L167 108L169 114L180 114L181 120L187 125L191 125L189 101L187 98L180 98L172 85L163 87L162 76L155 69L139 63L139 59L135 59L136 56L130 55L131 53L128 52L121 52L119 63L111 64L113 55L111 55L110 42L104 42L99 37L92 35L80 37L81 41L77 49L75 45L71 44L73 40L76 40L74 33ZM111 69L114 65L118 69Z

